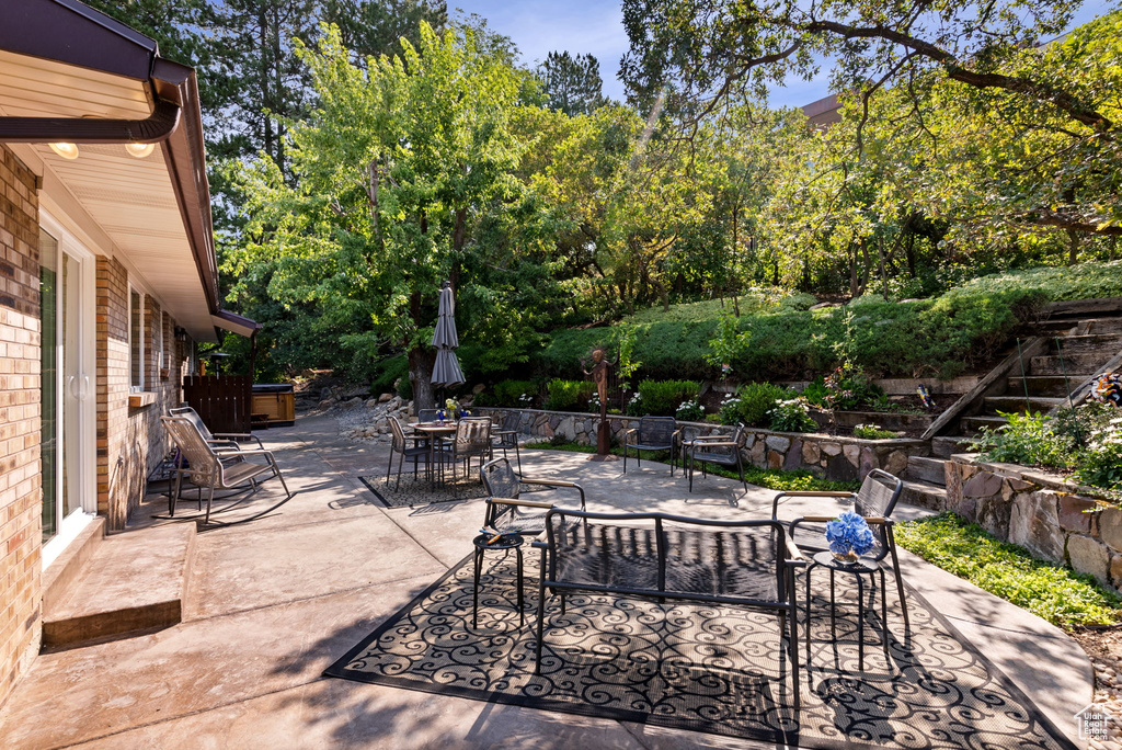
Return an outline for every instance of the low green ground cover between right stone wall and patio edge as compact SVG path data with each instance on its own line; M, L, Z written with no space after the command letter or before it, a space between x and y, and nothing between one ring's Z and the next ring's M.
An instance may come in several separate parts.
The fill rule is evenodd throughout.
M928 562L1065 628L1119 620L1119 597L1092 576L1033 558L950 512L896 525L896 541Z

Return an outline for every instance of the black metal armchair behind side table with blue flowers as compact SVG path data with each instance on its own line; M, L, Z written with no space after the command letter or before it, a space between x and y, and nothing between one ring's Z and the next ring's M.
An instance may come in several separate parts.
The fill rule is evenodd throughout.
M883 562L884 558L892 558L892 573L896 579L896 594L900 596L900 607L904 612L904 625L908 625L908 603L904 601L904 584L900 577L900 561L896 558L896 540L892 533L892 511L896 507L900 494L903 492L904 483L895 476L882 469L873 469L865 476L861 490L852 492L827 492L808 490L803 492L781 492L772 501L772 519L778 520L779 505L782 497L835 497L844 504L853 502L853 512L865 519L873 531L873 549L865 556L876 562ZM846 509L842 509L846 510ZM842 512L840 510L838 511ZM826 546L825 524L833 521L835 515L804 515L791 521L789 529L791 539L797 541L799 547L821 551L828 549ZM810 531L807 524L815 524L815 530ZM802 530L800 531L800 527ZM795 534L799 534L797 538ZM882 593L883 595L883 593Z

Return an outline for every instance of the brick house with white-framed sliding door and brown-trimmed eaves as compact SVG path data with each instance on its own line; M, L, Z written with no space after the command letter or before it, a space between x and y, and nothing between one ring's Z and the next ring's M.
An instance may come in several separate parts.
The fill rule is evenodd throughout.
M167 455L195 342L256 330L219 304L194 71L77 0L19 11L0 24L0 705L91 559L75 540L125 530Z

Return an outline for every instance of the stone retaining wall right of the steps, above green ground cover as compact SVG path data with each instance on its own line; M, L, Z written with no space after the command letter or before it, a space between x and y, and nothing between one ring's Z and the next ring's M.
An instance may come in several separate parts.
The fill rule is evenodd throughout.
M1122 510L1061 477L972 455L947 461L947 506L1001 540L1122 589Z

